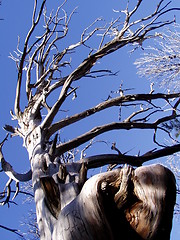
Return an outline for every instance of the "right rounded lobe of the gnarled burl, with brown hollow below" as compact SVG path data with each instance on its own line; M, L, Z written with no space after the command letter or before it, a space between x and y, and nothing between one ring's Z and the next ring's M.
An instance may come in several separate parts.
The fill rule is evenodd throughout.
M176 202L176 182L162 165L139 167L134 171L137 201L126 209L126 218L143 239L170 239Z

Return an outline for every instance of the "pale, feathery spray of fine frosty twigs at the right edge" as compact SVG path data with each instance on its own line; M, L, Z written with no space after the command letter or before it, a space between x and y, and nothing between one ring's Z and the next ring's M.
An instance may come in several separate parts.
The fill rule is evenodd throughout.
M154 47L149 46L142 58L135 61L140 76L146 76L150 80L162 79L161 86L167 89L178 89L179 67L179 42L180 36L174 25L174 31L168 29L158 34ZM174 82L174 84L172 84Z

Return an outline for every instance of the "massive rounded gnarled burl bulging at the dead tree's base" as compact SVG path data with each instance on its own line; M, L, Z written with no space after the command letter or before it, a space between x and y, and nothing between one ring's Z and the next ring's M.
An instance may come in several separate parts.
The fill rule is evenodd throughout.
M162 165L98 174L64 204L52 239L170 239L175 198L174 176Z

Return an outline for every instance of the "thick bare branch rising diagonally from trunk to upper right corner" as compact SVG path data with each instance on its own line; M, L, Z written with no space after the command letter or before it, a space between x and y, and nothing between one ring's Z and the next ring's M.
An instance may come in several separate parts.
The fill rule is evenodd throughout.
M139 1L140 3L141 1ZM174 10L174 9L172 9ZM170 11L170 10L169 10ZM134 12L133 12L134 13ZM132 15L130 15L132 16ZM150 18L154 17L154 15L151 15ZM59 95L58 100L50 110L50 112L47 114L46 118L44 119L43 123L41 124L42 128L47 128L51 125L54 117L56 116L57 112L59 111L59 108L63 104L64 100L66 99L66 95L68 92L68 89L71 85L71 83L74 80L80 79L83 76L85 76L91 68L95 65L95 63L105 57L106 55L109 55L110 53L115 52L116 50L126 46L127 44L131 43L139 43L142 40L145 40L149 38L146 36L150 31L153 31L163 25L169 24L169 22L164 23L157 23L157 25L153 25L154 21L149 23L149 28L144 28L144 26L140 26L138 31L136 33L132 34L132 36L124 36L125 32L129 29L129 18L128 20L125 20L125 25L128 25L127 27L124 26L122 31L119 32L119 34L111 41L106 43L104 46L102 46L97 52L90 55L88 58L86 58L65 80L64 85L62 87L61 93Z

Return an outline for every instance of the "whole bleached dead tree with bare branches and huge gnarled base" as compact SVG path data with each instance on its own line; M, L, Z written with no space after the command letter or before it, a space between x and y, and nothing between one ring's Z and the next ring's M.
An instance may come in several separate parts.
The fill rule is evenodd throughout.
M82 33L79 42L59 50L58 42L68 34L69 22L74 11L67 16L62 10L66 1L48 16L46 0L39 10L35 0L32 14L32 26L26 36L23 50L17 46L17 55L11 55L18 67L18 79L14 113L11 112L16 127L6 125L4 128L12 136L20 136L29 154L30 170L18 174L5 160L2 153L3 171L9 176L1 205L11 199L11 183L15 181L18 194L19 182L32 179L36 204L37 223L40 238L43 239L169 239L173 209L176 199L176 185L173 173L162 165L141 166L144 162L171 155L180 150L180 144L162 146L157 141L157 133L164 131L172 138L163 123L176 119L178 115L180 93L131 94L126 95L122 89L120 96L109 98L90 109L72 116L61 118L59 110L65 101L76 95L75 81L83 77L101 77L113 74L108 70L93 70L97 61L119 51L129 44L141 45L152 38L153 31L171 24L161 17L175 8L161 0L154 12L141 19L134 19L142 0L124 14L124 22L119 18L108 26L95 27L95 20ZM63 13L63 16L62 16ZM44 32L32 41L36 28L44 17ZM133 31L132 31L133 29ZM69 74L63 75L63 68L70 65L67 57L77 48L88 45L88 40L101 33L99 47L90 48L89 55ZM113 38L108 41L108 36ZM19 57L20 56L20 57ZM36 79L32 72L35 70ZM21 108L22 86L25 85L27 103ZM51 105L49 97L59 90L60 94ZM166 108L157 105L161 99ZM24 101L24 100L23 100ZM140 104L139 104L140 103ZM23 105L24 102L23 102ZM113 106L140 106L122 121L100 126L77 136L69 141L58 140L58 131L88 119L96 113ZM170 108L167 114L166 109ZM149 118L161 117L150 122ZM45 114L45 117L44 117ZM60 120L57 120L60 119ZM154 130L153 140L159 147L146 154L131 156L122 154L113 144L117 154L103 154L82 157L80 160L66 162L65 156L72 149L91 141L96 136L120 129ZM52 140L53 139L53 140ZM122 164L128 164L121 166ZM92 168L110 164L108 171L87 178L87 171ZM114 164L119 167L114 168ZM137 168L136 168L137 167Z

